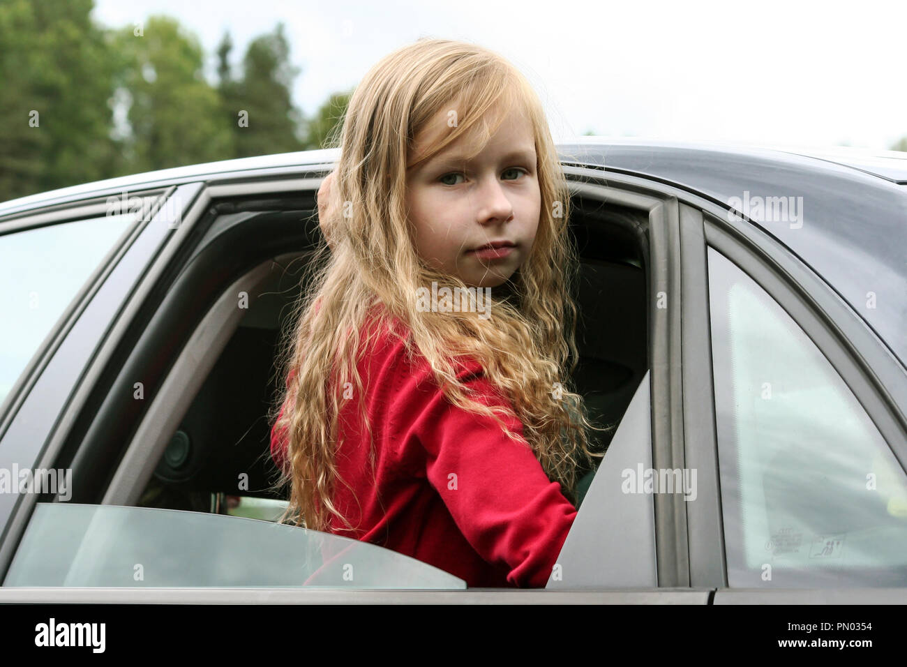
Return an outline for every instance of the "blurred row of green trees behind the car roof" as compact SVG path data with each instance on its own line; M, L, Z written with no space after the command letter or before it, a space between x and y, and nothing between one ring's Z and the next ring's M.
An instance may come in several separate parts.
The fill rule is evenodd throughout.
M92 10L93 0L0 0L0 201L335 138L352 92L299 110L284 25L253 39L234 72L229 33L205 54L171 17L108 27Z

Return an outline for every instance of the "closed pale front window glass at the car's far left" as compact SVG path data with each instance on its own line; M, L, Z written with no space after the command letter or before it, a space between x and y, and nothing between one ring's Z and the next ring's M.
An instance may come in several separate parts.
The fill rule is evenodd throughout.
M0 405L73 297L135 213L0 236Z

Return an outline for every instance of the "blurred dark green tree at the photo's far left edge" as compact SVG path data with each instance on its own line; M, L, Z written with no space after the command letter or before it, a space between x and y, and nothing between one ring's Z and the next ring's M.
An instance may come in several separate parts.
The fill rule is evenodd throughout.
M0 2L0 201L108 178L117 54L93 0Z

